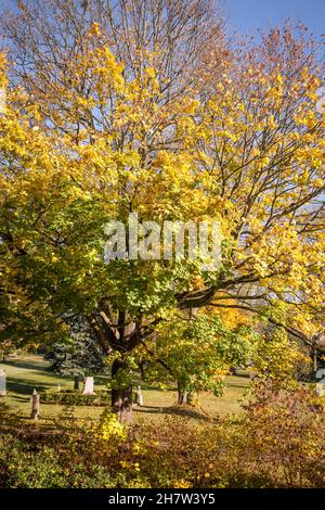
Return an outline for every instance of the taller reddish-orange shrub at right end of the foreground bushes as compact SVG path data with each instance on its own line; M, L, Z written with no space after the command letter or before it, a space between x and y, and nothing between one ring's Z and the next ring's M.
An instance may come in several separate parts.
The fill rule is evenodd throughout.
M274 484L325 483L325 400L309 388L258 383L245 406L245 463Z

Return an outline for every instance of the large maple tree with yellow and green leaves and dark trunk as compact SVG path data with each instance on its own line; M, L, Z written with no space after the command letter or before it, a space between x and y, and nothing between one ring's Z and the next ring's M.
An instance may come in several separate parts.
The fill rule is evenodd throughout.
M304 36L287 25L236 54L203 1L119 2L121 17L103 2L20 3L4 23L16 65L0 119L2 336L53 341L78 313L118 353L115 380L180 309L262 314L310 342L324 323L325 145ZM104 225L130 212L218 218L220 269L105 265ZM120 380L113 405L130 391Z

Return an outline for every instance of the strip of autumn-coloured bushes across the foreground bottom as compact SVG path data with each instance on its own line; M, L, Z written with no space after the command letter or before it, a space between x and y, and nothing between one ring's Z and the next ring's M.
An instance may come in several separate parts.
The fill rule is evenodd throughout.
M3 430L0 487L324 486L324 401L304 387L259 384L240 420L128 429L106 409L79 426L67 411L58 434Z

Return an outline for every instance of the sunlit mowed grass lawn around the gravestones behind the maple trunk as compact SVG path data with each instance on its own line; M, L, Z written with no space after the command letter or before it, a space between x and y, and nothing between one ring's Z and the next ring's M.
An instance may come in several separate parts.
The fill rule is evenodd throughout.
M30 396L32 390L43 392L55 390L57 384L63 388L73 388L74 381L70 378L58 375L51 371L50 365L41 356L24 356L11 358L6 362L1 362L0 368L4 369L8 377L8 395L1 397L0 403L6 403L12 410L23 419L28 420L30 415ZM108 377L94 374L95 390L103 390L108 383ZM226 388L224 395L216 397L211 393L199 395L202 410L205 417L216 419L225 415L237 415L240 412L240 399L249 387L249 379L239 375L229 375L225 380ZM172 411L172 406L177 403L176 388L161 391L150 386L144 382L141 384L144 406L135 409L134 417L143 419L160 419L164 415ZM51 422L63 410L63 406L42 404L40 407L41 421ZM75 408L78 419L98 418L103 407L79 406Z

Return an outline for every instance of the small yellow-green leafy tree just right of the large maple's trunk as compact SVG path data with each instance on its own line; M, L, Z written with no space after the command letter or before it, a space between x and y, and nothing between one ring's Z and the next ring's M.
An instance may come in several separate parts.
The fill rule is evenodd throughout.
M216 316L171 319L155 334L152 364L145 377L177 382L179 405L190 403L193 394L200 391L221 395L230 367L248 366L253 337L249 327L230 330Z

